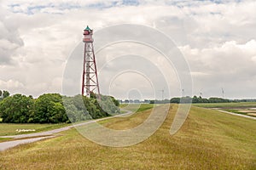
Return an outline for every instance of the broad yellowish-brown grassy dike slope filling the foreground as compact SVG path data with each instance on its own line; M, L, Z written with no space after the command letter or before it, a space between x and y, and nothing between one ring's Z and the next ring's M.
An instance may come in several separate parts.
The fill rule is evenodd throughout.
M176 111L172 105L163 125L140 144L105 147L72 129L0 152L0 169L256 169L256 121L192 107L180 131L170 136ZM135 127L148 114L113 118L105 126Z

